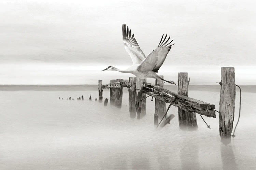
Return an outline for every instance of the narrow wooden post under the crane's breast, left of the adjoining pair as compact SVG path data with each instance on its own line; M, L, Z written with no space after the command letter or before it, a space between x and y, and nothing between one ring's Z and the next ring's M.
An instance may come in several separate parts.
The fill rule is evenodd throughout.
M130 77L129 78L129 112L130 117L135 118L136 117L136 77Z

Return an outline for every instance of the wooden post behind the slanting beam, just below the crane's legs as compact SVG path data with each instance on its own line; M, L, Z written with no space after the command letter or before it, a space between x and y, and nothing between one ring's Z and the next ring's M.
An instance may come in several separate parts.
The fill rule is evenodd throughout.
M163 78L162 75L160 75L161 78ZM156 79L156 85L163 87L163 80ZM166 103L155 99L155 113L158 115L159 119L162 119L162 117L165 115L166 112Z

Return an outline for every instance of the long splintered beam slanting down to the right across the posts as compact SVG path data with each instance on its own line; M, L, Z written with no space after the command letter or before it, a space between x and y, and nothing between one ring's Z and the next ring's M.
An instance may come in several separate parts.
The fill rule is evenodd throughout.
M154 92L150 91L153 87ZM171 103L174 97L176 97L176 100L173 102L174 106L180 107L187 112L196 112L207 117L216 117L215 110L213 110L215 109L214 104L176 94L152 83L144 82L143 93L147 95L157 93L152 96L166 103Z

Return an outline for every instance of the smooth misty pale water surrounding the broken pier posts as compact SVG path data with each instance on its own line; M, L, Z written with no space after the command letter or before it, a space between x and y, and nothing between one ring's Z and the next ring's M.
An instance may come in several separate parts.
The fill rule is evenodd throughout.
M211 130L197 115L198 130L188 132L179 130L172 106L175 118L155 130L154 101L148 98L143 119L130 119L126 88L118 109L94 101L97 86L0 86L0 169L256 169L255 89L242 86L237 136L225 146L218 113L204 117ZM219 86L190 86L189 96L218 110Z

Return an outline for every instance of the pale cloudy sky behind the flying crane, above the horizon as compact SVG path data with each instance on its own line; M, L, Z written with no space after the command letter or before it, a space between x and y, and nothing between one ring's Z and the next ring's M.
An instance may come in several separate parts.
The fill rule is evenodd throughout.
M169 34L175 45L159 74L192 84L220 80L235 67L237 84L256 84L254 1L0 0L0 84L97 84L129 74L101 72L132 64L126 23L147 55ZM103 83L104 83L103 82Z

